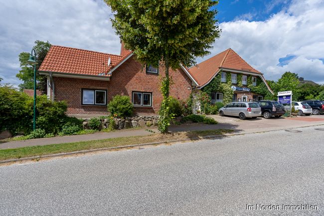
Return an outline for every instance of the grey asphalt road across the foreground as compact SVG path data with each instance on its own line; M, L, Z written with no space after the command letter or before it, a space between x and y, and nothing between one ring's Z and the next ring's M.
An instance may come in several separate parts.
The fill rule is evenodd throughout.
M324 126L297 130L2 166L0 215L323 216Z

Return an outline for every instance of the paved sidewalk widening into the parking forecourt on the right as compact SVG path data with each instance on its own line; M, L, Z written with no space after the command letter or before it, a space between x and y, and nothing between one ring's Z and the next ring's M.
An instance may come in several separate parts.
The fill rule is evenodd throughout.
M169 127L170 132L185 132L185 131L197 131L197 130L212 130L212 129L232 129L234 134L245 134L255 132L265 132L271 130L286 130L289 128L307 127L314 125L324 125L324 115L320 116L307 116L307 117L295 117L289 118L272 118L272 119L248 119L240 120L235 117L220 117L212 115L212 118L217 120L217 125L207 124L182 124L172 125ZM151 129L158 133L157 128ZM109 138L118 137L129 137L129 136L145 136L152 134L146 129L132 129L132 130L121 130L113 132L97 132L94 134L75 135L75 136L64 136L64 137L52 137L52 138L41 138L32 140L22 141L10 141L0 143L0 149L12 149L26 146L43 146L49 144L61 144L61 143L72 143L80 141L90 140L102 140Z

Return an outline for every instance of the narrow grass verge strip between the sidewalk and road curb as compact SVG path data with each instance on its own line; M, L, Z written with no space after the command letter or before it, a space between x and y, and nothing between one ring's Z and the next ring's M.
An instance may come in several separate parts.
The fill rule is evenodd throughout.
M225 133L231 133L233 130L229 129L216 129L216 130L205 130L205 131L190 131L190 132L179 132L172 134L152 134L147 136L133 136L133 137L120 137L110 138L105 140L95 141L82 141L75 143L63 143L63 144L51 144L46 146L30 146L17 149L3 149L0 150L0 161L26 158L32 156L50 155L64 152L74 152L80 150L100 149L117 146L136 145L143 143L154 143L154 142L167 142L179 139L193 139L204 136L221 135Z

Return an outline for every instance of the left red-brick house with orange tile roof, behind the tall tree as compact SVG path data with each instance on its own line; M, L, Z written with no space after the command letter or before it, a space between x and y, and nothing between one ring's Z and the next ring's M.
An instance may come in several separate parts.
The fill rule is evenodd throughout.
M39 73L47 76L47 96L67 101L67 114L78 117L107 115L107 103L115 95L128 95L136 114L157 114L162 102L159 90L164 68L139 63L122 43L120 55L52 45ZM188 69L170 70L174 82L170 95L189 97L197 82Z

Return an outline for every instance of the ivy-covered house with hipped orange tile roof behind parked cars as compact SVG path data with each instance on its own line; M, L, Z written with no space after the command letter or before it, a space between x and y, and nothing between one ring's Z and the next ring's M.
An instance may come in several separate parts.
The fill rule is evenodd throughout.
M259 101L273 94L263 73L231 48L191 67L189 72L198 83L196 91L208 93L212 104Z

